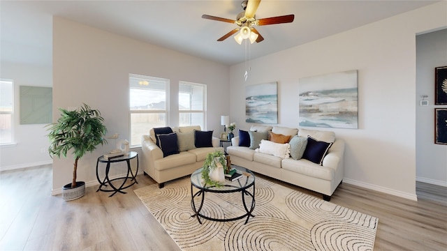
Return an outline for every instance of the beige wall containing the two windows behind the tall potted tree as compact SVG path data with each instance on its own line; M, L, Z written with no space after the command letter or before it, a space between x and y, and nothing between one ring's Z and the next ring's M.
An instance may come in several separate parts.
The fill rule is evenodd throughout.
M220 116L229 113L228 66L60 17L54 17L53 38L53 119L59 117L55 108L85 102L101 111L110 135L117 132L129 139L129 73L133 73L170 79L170 126L178 124L178 82L207 84L204 129L220 134ZM78 164L78 181L96 183L96 158L114 148L99 146L85 155ZM72 162L72 158L54 160L53 191L71 182ZM124 172L122 167L116 169L111 175Z

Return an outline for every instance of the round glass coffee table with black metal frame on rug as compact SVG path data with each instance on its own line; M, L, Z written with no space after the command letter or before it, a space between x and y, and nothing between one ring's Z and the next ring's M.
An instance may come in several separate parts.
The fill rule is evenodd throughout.
M219 222L228 222L231 220L240 220L242 218L247 217L247 220L245 220L245 224L249 221L250 216L254 217L254 215L251 214L254 210L255 206L255 199L254 199L254 192L255 192L255 176L253 172L251 172L249 169L246 169L244 167L237 167L232 166L237 169L237 172L242 173L242 178L237 179L236 181L228 181L225 180L221 186L212 186L209 184L204 185L202 180L202 169L197 169L193 174L191 174L191 207L193 208L194 214L191 215L191 217L197 217L197 220L200 224L202 222L200 221L200 217L207 219L207 220L214 220ZM198 188L197 192L193 192L193 188ZM252 189L251 189L252 188ZM231 192L240 192L242 196L242 205L244 207L245 213L243 215L237 216L235 218L212 218L207 215L203 215L203 213L200 213L200 211L203 208L203 203L205 201L205 195L207 195L208 192L212 192L215 194L227 194ZM200 205L196 206L196 203L194 202L194 198L201 197L200 199ZM250 201L249 205L247 205L247 199Z

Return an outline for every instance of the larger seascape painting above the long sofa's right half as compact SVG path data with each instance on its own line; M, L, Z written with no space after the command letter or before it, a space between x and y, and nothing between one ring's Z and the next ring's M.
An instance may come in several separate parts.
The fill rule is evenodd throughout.
M358 128L357 70L300 79L300 126Z

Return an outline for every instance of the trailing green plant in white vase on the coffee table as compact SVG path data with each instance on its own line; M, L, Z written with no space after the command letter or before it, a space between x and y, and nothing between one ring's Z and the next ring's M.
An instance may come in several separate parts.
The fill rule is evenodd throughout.
M226 155L221 151L208 153L202 166L202 178L205 184L221 186L225 180L224 168L226 168Z

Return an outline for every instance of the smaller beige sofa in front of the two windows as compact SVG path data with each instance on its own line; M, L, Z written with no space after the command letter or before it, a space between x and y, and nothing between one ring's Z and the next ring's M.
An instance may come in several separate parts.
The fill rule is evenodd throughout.
M173 131L177 133L179 140L180 135L189 135L193 133L194 130L200 131L200 126L173 128ZM191 140L193 141L194 138ZM149 135L143 135L141 142L141 166L145 175L151 176L154 181L159 183L159 188L163 188L165 182L192 174L196 169L202 167L208 153L217 150L223 152L223 148L219 147L220 141L217 137L212 137L212 147L196 148L195 146L191 146L191 144L193 144L191 140L188 140L187 142L178 142L180 150L182 148L181 144L190 144L189 148L183 147L184 149L188 149L187 151L179 151L177 154L163 157L163 151L156 145L154 130L151 129Z

